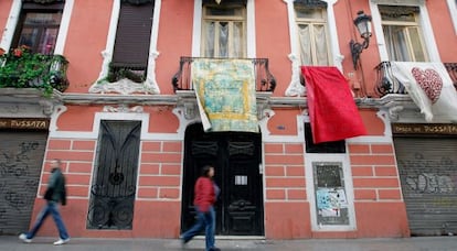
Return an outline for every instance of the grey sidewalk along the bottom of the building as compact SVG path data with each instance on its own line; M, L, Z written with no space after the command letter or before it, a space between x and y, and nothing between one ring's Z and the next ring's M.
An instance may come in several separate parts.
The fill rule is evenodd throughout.
M203 240L191 241L185 249L177 239L88 239L74 238L67 244L52 245L55 239L35 238L23 243L17 237L0 236L0 251L172 251L204 250ZM311 240L216 240L223 251L456 251L457 237L402 239L311 239Z

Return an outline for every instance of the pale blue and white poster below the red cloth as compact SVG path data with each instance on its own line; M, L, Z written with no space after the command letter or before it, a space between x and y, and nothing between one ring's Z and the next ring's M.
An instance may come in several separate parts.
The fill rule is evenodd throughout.
M317 188L316 198L321 217L340 217L341 209L348 208L348 200L342 188Z

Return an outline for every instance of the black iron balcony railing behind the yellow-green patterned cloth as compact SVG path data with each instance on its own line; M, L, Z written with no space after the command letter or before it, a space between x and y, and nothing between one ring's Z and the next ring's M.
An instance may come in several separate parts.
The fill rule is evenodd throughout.
M192 62L199 57L181 57L179 62L179 70L172 78L174 91L177 90L192 90ZM212 59L227 59L227 58L212 58ZM274 91L276 87L276 79L268 69L268 58L247 58L254 65L255 74L255 89L256 91Z

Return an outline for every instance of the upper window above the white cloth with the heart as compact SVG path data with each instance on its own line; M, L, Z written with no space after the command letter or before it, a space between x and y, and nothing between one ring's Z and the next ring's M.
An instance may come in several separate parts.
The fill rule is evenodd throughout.
M418 7L379 7L390 61L426 62Z

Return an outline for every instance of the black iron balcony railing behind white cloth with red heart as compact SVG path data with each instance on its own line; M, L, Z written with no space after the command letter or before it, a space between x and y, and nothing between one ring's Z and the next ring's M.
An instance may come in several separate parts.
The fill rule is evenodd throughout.
M457 63L444 63L454 86L457 88ZM406 89L392 73L391 62L381 62L375 68L378 73L375 91L382 97L389 94L406 94Z

